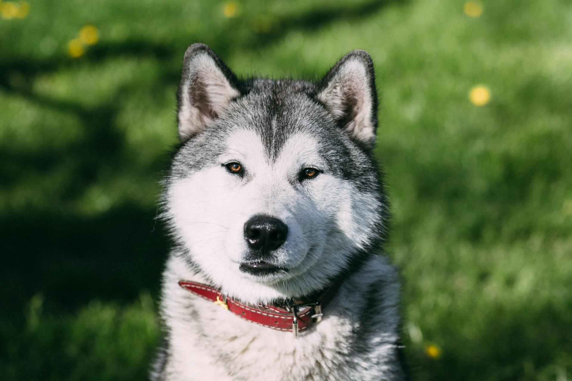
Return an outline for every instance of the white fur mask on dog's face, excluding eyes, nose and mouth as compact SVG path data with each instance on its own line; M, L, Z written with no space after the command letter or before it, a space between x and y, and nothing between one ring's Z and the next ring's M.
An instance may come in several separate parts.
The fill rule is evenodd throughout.
M220 163L173 181L168 190L174 226L194 262L223 292L250 303L323 287L356 248L368 244L366 231L377 222L371 211L379 201L328 173L309 134L290 137L273 162L253 131L239 130L227 141ZM244 179L224 168L233 161L247 171ZM324 172L303 185L292 182L304 167ZM288 226L276 264L289 271L263 282L239 270L247 254L244 224L257 214L275 216ZM304 275L310 270L312 275Z

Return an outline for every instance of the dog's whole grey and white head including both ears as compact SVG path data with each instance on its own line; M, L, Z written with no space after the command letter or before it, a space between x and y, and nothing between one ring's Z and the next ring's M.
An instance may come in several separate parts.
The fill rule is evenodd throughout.
M181 255L213 284L250 302L306 295L375 246L383 198L366 53L319 85L240 82L193 45L178 97L183 142L165 215Z

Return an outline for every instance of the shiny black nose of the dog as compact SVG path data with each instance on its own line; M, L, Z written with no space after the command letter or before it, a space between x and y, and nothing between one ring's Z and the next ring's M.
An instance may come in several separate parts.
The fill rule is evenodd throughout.
M248 246L263 253L282 246L287 235L288 226L274 217L256 215L244 224L244 238Z

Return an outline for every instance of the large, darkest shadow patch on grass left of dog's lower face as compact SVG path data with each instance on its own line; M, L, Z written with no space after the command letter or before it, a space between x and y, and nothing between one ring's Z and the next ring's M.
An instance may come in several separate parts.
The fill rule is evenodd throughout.
M94 218L22 211L2 219L0 284L13 306L41 294L53 308L158 291L168 241L156 210L130 204Z

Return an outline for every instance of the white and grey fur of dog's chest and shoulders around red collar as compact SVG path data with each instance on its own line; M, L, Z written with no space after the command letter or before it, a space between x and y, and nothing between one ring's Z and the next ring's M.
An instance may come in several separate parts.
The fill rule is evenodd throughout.
M172 255L165 271L168 379L401 379L401 370L392 366L398 351L398 283L382 258L372 258L344 282L323 320L299 338L257 326L179 287L180 279L204 282L184 268Z

